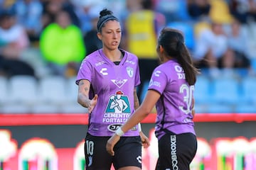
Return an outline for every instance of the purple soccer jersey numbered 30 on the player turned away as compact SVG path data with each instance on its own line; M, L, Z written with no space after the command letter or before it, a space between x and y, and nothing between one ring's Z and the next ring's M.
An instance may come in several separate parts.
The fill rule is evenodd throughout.
M149 88L158 91L161 98L156 103L156 136L164 135L163 129L176 134L192 132L192 98L194 86L189 86L182 67L175 60L169 60L154 69ZM196 134L195 134L196 135Z

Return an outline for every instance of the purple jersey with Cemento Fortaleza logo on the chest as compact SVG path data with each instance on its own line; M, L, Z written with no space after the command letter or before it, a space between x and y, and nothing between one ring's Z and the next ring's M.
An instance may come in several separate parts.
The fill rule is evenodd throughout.
M95 136L111 136L134 113L134 88L140 84L138 58L127 51L119 65L110 61L102 49L85 57L78 72L91 83L90 98L98 95L90 113L88 132ZM139 135L137 127L124 136Z

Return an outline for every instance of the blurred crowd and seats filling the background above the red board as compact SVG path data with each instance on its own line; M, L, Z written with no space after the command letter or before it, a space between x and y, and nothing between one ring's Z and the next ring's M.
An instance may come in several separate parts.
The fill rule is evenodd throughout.
M102 47L99 12L122 25L146 91L159 30L183 32L201 69L198 113L256 113L255 0L0 0L0 113L85 113L76 101L82 59Z

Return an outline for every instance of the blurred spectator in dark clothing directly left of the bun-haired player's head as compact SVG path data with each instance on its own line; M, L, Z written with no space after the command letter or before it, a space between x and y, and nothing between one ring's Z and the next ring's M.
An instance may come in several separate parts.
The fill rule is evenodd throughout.
M99 19L99 11L101 10L102 8L100 7L92 7L88 12L92 29L87 31L84 36L86 55L90 55L90 53L102 48L102 41L97 37L97 21Z

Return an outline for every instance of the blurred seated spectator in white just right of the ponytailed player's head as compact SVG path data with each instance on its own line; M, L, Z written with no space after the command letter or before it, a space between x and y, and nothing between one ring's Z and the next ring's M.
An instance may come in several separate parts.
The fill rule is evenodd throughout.
M219 69L230 71L235 65L232 50L228 48L228 37L222 23L211 23L196 36L196 47L193 54L199 68L210 68L213 77L219 75Z

